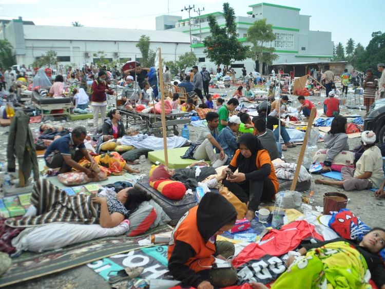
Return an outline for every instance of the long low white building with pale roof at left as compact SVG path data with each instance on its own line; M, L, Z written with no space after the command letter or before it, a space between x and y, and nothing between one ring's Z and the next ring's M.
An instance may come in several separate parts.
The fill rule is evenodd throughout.
M0 25L0 39L12 44L17 64L26 66L49 50L57 52L60 64L79 67L97 60L93 54L99 51L111 61L140 61L141 35L150 37L150 49L161 47L164 61L190 51L189 35L177 31L24 25L21 17Z

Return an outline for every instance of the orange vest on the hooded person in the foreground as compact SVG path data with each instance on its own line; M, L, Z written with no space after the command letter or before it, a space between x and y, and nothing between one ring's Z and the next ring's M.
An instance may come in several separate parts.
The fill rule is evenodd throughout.
M183 241L189 244L196 255L187 260L187 265L191 270L199 272L205 269L210 269L215 262L214 254L216 252L215 243L204 242L197 225L197 210L195 206L187 211L187 213L179 220L177 226L172 232L171 239L168 245L167 259L170 260L174 251L175 242Z

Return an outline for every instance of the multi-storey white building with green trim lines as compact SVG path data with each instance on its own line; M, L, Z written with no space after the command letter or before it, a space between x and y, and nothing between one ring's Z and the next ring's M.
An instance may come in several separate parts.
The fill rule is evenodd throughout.
M301 15L299 8L269 3L259 3L249 7L253 10L247 12L248 16L236 16L239 42L251 45L246 42L247 29L256 20L266 18L266 23L273 26L273 32L277 37L271 43L271 46L276 49L275 53L279 55L279 59L273 64L330 61L333 56L332 33L310 30L311 16ZM223 13L214 12L191 18L191 20L181 19L176 23L175 28L168 29L168 31L179 31L189 34L191 28L191 46L194 47L194 51L199 57L200 65L205 64L207 67L215 68L215 65L205 58L203 53L204 45L200 41L210 33L208 15L215 16L220 26L225 25ZM164 15L160 17L164 17ZM232 66L237 68L237 75L239 75L243 65L247 71L253 71L255 68L258 70L257 63L251 59L235 62Z

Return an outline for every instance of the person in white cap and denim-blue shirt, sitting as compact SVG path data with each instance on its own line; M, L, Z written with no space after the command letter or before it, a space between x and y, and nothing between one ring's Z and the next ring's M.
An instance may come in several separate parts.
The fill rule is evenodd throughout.
M237 115L233 115L228 119L227 126L219 133L218 143L228 157L225 165L230 163L235 151L238 149L236 133L238 132L240 124L241 119Z

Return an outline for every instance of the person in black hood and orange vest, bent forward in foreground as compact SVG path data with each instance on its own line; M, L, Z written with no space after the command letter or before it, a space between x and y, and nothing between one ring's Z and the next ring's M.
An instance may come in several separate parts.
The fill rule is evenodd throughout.
M220 194L207 192L198 206L184 214L171 234L167 259L172 276L198 289L236 283L238 277L233 267L215 269L215 257L227 260L234 255L232 243L216 239L233 227L236 218L233 204Z

